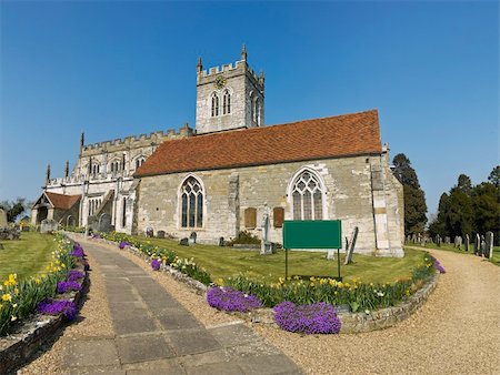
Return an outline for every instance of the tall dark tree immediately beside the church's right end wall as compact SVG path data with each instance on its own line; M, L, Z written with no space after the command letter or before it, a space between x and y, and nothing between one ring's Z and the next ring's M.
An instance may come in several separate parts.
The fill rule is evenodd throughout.
M404 234L422 233L427 223L427 204L417 172L403 153L397 154L392 164L396 178L403 185Z

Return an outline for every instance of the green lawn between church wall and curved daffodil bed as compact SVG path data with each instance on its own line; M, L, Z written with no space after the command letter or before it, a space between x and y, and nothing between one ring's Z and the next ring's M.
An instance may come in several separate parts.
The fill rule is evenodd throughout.
M259 255L258 251L241 251L231 247L196 244L181 246L176 241L137 237L151 244L176 251L179 257L193 257L196 263L207 268L213 281L246 274L249 277L263 277L277 282L284 276L284 252ZM353 264L343 265L341 252L341 276L358 277L366 283L389 283L397 278L411 277L412 270L422 262L422 252L407 250L403 259L374 257L354 254ZM337 254L336 254L337 255ZM327 261L326 253L289 252L289 275L337 276L337 260Z

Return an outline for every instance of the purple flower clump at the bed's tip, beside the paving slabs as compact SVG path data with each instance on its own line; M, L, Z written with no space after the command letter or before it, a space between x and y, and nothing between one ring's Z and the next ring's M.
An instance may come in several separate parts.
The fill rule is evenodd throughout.
M262 307L262 302L254 295L243 294L229 286L212 287L207 292L207 302L210 306L223 311L247 312L251 308Z

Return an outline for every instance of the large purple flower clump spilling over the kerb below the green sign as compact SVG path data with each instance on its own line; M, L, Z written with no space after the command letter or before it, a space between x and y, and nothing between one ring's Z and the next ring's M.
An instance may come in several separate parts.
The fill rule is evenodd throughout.
M324 302L296 305L286 301L274 306L274 321L284 331L306 334L340 332L340 320L336 308Z

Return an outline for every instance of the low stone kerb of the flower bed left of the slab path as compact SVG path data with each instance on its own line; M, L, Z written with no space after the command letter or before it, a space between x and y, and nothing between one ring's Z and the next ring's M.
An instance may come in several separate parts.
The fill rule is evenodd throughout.
M80 304L89 285L89 274L82 265L73 268L84 273L81 290L63 294L77 306ZM58 316L36 313L22 322L13 333L0 338L0 374L8 374L24 364L47 339L66 324L62 314Z

